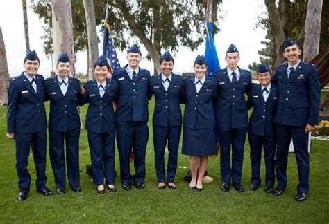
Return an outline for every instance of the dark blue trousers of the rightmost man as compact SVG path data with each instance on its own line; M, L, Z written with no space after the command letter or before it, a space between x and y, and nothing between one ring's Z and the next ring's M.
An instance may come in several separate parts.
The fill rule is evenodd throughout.
M298 169L298 193L307 193L310 189L310 158L307 151L308 133L304 126L287 126L277 124L278 147L276 149L276 179L278 187L287 185L287 162L290 140L294 143L294 151Z

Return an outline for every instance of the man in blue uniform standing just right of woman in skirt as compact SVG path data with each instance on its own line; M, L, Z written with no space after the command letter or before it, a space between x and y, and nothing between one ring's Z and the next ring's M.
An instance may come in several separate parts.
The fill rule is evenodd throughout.
M248 126L248 109L244 94L248 95L251 73L237 66L239 59L239 51L231 44L225 57L228 66L214 73L218 89L216 120L219 129L222 192L229 191L231 180L238 192L244 191L241 177Z

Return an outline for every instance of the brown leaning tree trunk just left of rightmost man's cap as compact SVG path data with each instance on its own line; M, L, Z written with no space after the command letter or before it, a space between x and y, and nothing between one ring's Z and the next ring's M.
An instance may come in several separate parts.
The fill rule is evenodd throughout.
M269 24L273 30L274 38L274 60L273 69L282 62L282 45L285 41L285 32L281 25L280 14L275 0L264 0L267 12L269 12Z

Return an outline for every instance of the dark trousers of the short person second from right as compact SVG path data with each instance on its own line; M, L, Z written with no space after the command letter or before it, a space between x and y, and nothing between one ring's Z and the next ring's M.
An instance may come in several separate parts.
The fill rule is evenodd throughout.
M275 183L274 156L276 153L276 136L258 136L248 133L251 160L251 183L260 185L260 162L264 147L265 186L273 187Z

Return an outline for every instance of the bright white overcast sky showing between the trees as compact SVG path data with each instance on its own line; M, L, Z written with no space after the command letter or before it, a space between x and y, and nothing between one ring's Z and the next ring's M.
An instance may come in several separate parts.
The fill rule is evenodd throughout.
M30 3L30 0L27 1ZM240 68L248 68L249 64L259 62L258 50L263 46L260 41L265 40L266 30L255 28L257 17L266 11L262 0L223 0L221 4L223 19L219 20L220 32L214 36L215 46L221 68L226 67L225 55L230 44L235 44L239 50ZM23 61L26 55L22 0L0 0L0 26L2 28L3 39L6 46L6 55L10 77L15 77L23 71ZM35 50L40 58L40 74L44 77L50 76L52 69L51 59L44 55L43 22L34 14L28 6L28 28L30 36L30 48ZM98 28L99 30L99 28ZM100 30L99 30L100 32ZM102 37L99 43L99 53L102 52ZM141 46L142 55L146 55L146 49ZM174 73L192 72L193 62L196 55L205 53L205 41L198 49L191 51L181 47L178 52L172 53L175 59ZM126 64L126 51L117 50L121 66ZM56 58L57 59L57 58ZM76 72L86 73L87 53L78 52L76 54ZM153 73L153 62L143 59L141 68L146 68Z

